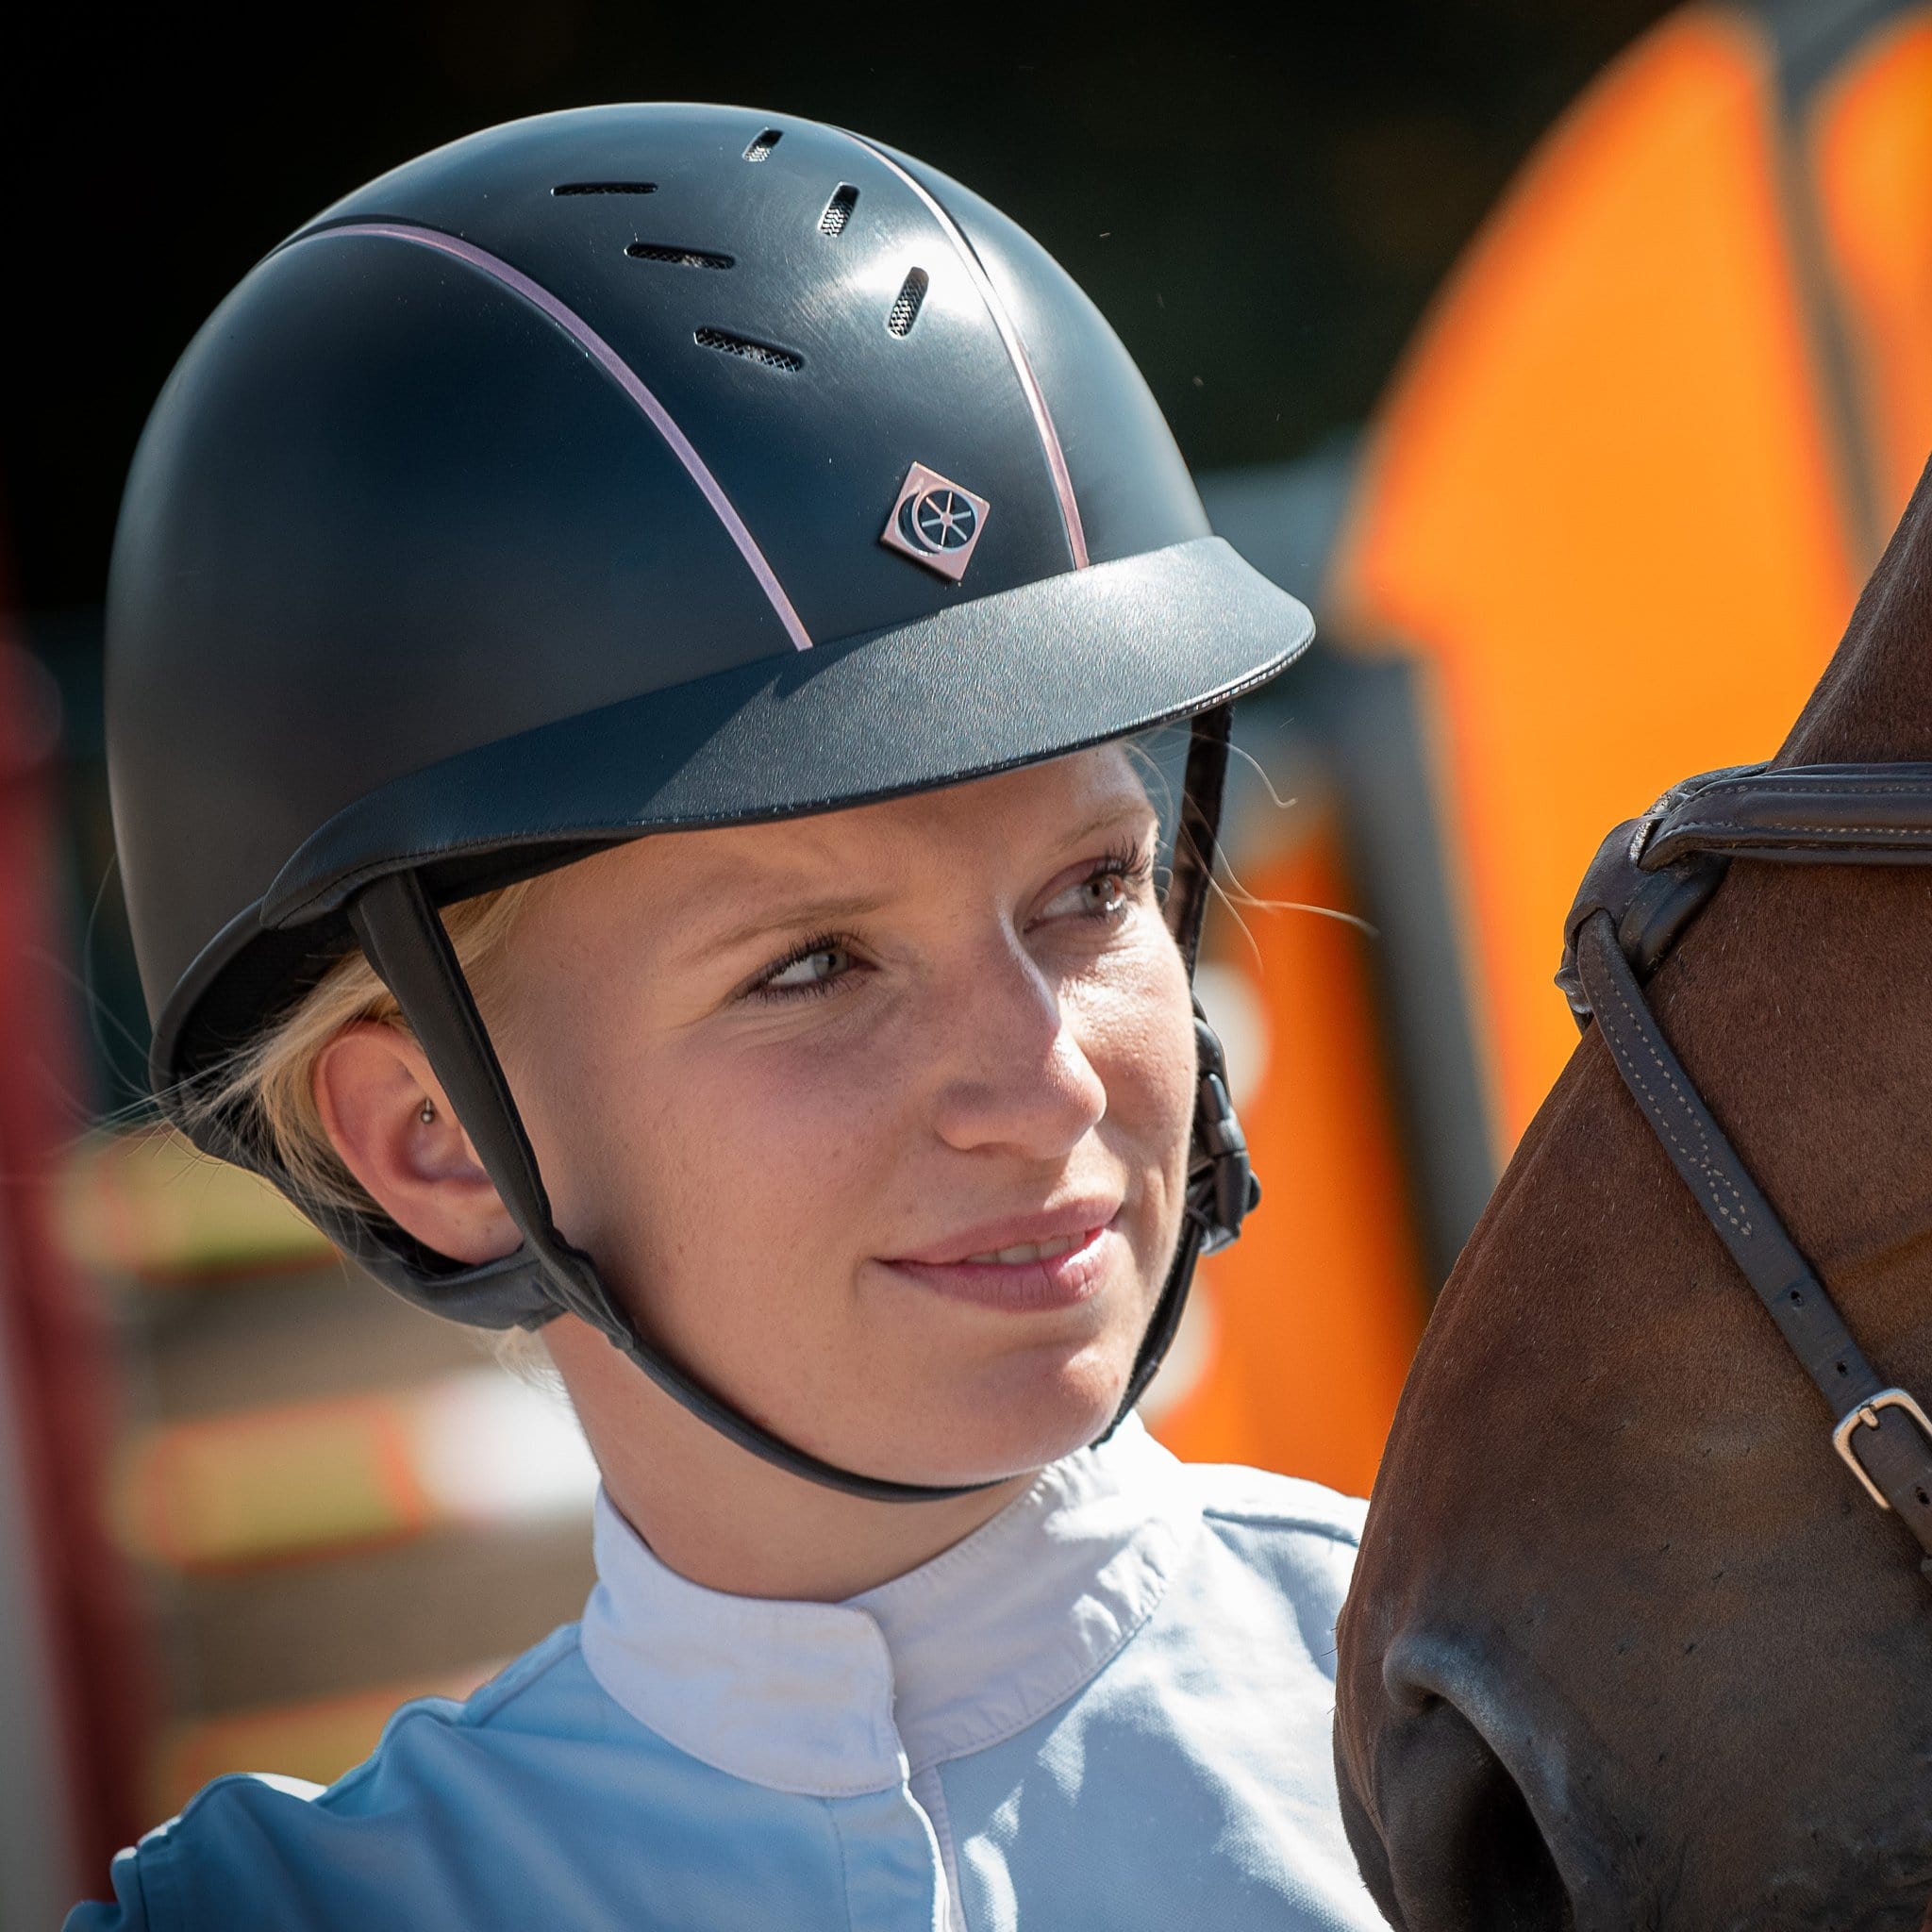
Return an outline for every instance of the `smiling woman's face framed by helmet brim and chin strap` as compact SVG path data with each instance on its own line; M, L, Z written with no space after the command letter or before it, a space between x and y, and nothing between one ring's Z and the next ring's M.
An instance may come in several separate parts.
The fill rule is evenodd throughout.
M553 873L491 1014L558 1227L833 1463L960 1482L1090 1441L1182 1211L1155 842L1113 746Z

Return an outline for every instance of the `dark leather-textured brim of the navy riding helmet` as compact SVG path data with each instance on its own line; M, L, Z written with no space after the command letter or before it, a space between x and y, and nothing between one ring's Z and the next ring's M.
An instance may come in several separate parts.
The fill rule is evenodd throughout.
M446 904L645 833L991 777L1227 703L1312 638L1300 601L1200 537L440 759L328 819L207 949L156 1024L156 1086L201 1059L184 1065L182 1039L211 997L216 1030L243 1030L220 981L245 951L340 951L346 904L384 873L413 869Z

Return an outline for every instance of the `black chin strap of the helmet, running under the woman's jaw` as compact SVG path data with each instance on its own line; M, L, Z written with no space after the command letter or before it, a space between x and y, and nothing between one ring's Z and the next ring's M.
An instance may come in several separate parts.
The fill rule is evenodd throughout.
M1227 734L1229 711L1221 705L1196 721L1188 750L1167 910L1190 978L1213 862L1213 827L1221 813ZM394 871L371 881L352 900L350 923L369 964L394 993L396 1005L402 1007L404 1018L429 1055L429 1065L469 1134L477 1159L524 1236L522 1262L529 1264L529 1273L541 1281L547 1302L539 1314L526 1318L526 1325L539 1325L558 1314L580 1316L674 1403L740 1449L792 1476L842 1490L846 1495L877 1503L931 1503L972 1495L1003 1480L916 1484L840 1468L775 1435L668 1360L639 1333L630 1312L597 1273L597 1264L558 1233L502 1063L421 877L415 871ZM1240 1217L1260 1192L1248 1173L1246 1144L1227 1099L1221 1045L1202 1016L1200 1003L1194 1007L1194 1030L1200 1078L1188 1157L1186 1221L1107 1435L1121 1426L1161 1366L1180 1325L1196 1260L1235 1238ZM417 1298L435 1306L431 1296Z

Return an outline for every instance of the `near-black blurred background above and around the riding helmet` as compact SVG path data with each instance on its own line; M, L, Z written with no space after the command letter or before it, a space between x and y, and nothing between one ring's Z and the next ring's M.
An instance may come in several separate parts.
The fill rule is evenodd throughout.
M43 0L6 60L17 605L99 603L147 406L280 236L440 141L597 100L730 100L908 149L1061 257L1196 469L1306 454L1362 421L1515 164L1662 12Z

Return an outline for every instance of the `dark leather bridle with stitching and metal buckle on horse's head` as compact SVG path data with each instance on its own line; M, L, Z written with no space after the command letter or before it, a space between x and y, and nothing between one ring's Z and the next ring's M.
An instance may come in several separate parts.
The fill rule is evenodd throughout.
M1932 1420L1866 1362L1644 1001L1642 981L1733 858L1932 864L1932 763L1735 765L1687 779L1604 840L1565 922L1557 974L1577 1024L1596 1020L1671 1165L1837 1418L1832 1445L1918 1538L1932 1578Z

